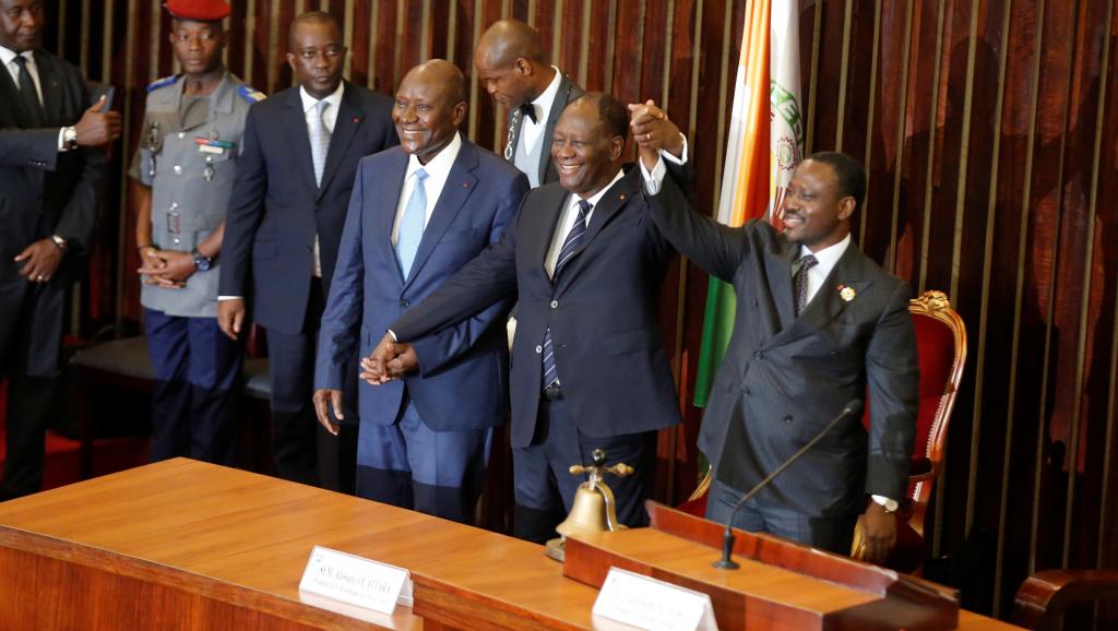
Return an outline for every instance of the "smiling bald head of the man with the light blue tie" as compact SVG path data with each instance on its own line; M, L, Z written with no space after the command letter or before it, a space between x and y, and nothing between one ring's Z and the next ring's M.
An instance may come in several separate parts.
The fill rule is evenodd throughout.
M458 125L466 117L466 103L455 88L461 81L449 77L448 72L433 63L417 66L396 91L392 122L400 136L400 148L418 158L421 164L454 140Z

